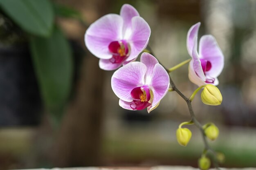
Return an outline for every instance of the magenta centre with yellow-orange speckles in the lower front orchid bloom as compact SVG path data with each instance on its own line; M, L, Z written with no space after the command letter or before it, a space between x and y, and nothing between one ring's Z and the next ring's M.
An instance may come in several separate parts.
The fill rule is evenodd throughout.
M143 89L143 91L141 89ZM132 110L143 110L151 105L151 103L148 102L150 100L150 90L148 86L133 88L131 96L133 98L133 102L130 104Z

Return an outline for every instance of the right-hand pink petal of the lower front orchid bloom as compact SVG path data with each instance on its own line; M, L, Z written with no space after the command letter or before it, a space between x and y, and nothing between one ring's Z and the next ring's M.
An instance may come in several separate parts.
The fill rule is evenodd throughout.
M153 107L166 95L170 86L169 75L159 63L155 64L150 85L153 91Z

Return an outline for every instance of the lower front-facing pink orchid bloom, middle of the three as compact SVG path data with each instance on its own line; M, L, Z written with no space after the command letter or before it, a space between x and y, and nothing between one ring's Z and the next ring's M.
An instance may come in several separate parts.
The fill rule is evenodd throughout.
M111 86L119 105L128 110L155 109L170 86L169 75L157 59L142 53L140 62L131 62L112 75Z

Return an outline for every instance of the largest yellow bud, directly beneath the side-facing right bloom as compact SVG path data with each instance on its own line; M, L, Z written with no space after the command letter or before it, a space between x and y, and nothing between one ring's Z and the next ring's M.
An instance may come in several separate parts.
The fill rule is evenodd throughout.
M204 104L217 106L222 102L222 95L216 86L207 84L201 93L201 99Z

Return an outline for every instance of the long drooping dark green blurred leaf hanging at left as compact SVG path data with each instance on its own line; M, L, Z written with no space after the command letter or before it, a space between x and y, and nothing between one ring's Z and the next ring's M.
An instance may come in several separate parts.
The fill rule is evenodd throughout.
M31 37L32 60L46 107L60 118L72 84L73 61L70 45L59 29L49 38Z

